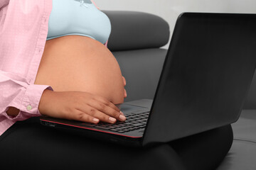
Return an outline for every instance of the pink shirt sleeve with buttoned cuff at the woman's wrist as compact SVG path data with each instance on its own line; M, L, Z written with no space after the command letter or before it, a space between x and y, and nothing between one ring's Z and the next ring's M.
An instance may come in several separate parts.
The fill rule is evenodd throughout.
M47 85L29 84L26 79L16 74L0 70L0 135L18 120L41 115L38 104ZM20 112L13 118L6 111L12 106Z

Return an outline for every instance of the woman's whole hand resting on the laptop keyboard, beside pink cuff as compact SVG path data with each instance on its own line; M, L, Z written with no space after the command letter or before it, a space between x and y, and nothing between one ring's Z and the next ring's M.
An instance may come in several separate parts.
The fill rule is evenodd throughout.
M126 118L117 106L102 96L82 91L43 91L38 110L53 118L88 123L115 123Z

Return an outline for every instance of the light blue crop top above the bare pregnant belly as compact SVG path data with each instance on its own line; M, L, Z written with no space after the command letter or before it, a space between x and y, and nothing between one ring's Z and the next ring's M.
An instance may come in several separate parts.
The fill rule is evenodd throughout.
M82 35L105 44L111 23L90 0L53 0L46 40L65 35Z

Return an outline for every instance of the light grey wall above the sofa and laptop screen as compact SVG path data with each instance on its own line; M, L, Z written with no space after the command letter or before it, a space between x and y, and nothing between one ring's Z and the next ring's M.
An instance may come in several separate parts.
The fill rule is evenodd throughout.
M94 0L102 10L142 11L161 16L171 35L182 12L256 13L256 0ZM171 39L171 38L170 38ZM170 41L170 40L169 40ZM169 43L163 48L168 48Z

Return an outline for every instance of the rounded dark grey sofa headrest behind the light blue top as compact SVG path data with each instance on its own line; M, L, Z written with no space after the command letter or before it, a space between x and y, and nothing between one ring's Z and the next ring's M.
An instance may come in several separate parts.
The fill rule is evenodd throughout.
M162 47L169 41L169 24L159 16L137 11L103 12L111 21L111 51Z

